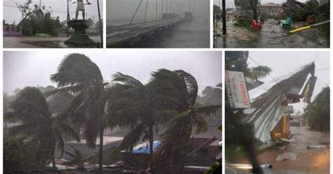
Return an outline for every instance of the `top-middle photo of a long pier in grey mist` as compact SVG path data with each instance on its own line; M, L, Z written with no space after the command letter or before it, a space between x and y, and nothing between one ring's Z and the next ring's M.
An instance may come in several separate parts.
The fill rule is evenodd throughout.
M106 7L107 48L209 48L209 0L108 0Z

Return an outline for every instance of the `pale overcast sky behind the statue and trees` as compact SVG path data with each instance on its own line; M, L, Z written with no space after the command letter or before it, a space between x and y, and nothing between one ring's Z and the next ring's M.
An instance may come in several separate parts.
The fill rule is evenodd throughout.
M76 2L76 0L71 0L70 4ZM100 14L101 18L103 18L103 0L100 1ZM21 20L21 13L18 10L17 4L25 4L27 0L4 0L4 20L8 23L13 23L15 21L16 24ZM94 19L94 22L98 21L98 9L97 9L97 0L89 0L91 5L85 6L86 8L86 18ZM86 4L86 0L84 0ZM39 0L32 0L32 4L30 6L34 6L34 4L39 4ZM41 0L41 5L45 6L46 9L52 11L52 17L56 18L60 17L60 21L67 20L67 0ZM51 7L51 8L50 8ZM77 8L77 4L70 5L70 17L75 18L75 11ZM79 18L81 17L81 12L79 13Z

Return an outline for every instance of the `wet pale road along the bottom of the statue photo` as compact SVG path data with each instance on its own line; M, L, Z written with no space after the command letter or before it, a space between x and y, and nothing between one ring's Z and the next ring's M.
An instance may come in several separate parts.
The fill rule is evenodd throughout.
M100 36L89 37L100 43ZM4 48L68 48L64 44L67 39L67 37L4 36Z

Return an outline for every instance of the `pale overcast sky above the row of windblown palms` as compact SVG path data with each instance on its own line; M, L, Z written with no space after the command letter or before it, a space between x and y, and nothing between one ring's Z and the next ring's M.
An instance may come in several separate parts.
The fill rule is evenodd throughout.
M189 72L199 86L216 86L222 81L222 53L219 51L21 51L4 52L4 92L15 88L53 85L50 75L69 53L84 53L95 62L105 81L115 72L129 74L143 83L150 72L166 68Z

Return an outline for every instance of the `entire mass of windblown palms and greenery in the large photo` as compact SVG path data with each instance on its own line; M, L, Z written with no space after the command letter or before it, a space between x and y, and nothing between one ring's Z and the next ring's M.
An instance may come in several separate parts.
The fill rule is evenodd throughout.
M150 164L166 163L165 166L158 166L161 170L169 167L167 163L172 163L174 172L171 173L182 173L191 134L206 131L207 116L221 109L221 98L208 98L208 95L221 93L221 89L206 88L204 93L207 95L201 98L202 101L217 104L208 105L207 102L203 106L196 103L198 86L195 77L181 69L152 72L152 78L146 84L120 72L112 77L112 81L105 82L99 67L86 55L67 55L60 63L58 72L51 75L51 81L57 83L57 88L26 87L18 90L20 92L9 108L9 98L4 95L6 120L22 123L8 128L8 135L25 137L27 143L37 145L36 159L41 168L50 161L55 167L55 147L72 157L69 163L83 168L84 161L88 159L74 147L73 153L64 152L64 138L67 137L63 137L70 135L79 141L76 132L81 130L82 137L91 148L96 147L96 140L100 138L98 163L102 168L105 128L129 128L115 152L131 151L133 145L145 140L152 145L158 136L162 145L155 154L150 148ZM221 87L221 84L218 86ZM57 109L51 102L46 102L46 97L53 98L58 106L67 109ZM51 115L50 107L61 113ZM162 135L158 134L159 126L166 126Z

